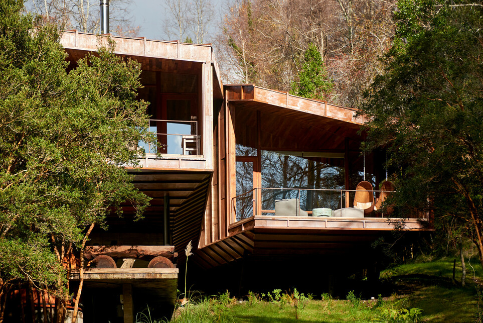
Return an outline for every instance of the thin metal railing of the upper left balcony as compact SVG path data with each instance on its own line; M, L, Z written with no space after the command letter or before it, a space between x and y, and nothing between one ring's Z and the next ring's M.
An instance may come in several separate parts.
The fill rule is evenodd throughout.
M143 141L139 147L146 154L199 155L200 136L197 121L149 119L149 132L157 137L157 143L151 145Z

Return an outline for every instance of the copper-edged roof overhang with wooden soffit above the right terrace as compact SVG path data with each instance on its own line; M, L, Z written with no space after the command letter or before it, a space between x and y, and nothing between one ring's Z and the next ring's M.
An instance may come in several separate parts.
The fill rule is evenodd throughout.
M349 149L359 151L365 116L356 109L253 84L225 85L225 96L234 107L237 143L252 146L260 114L262 149L341 153L349 139Z

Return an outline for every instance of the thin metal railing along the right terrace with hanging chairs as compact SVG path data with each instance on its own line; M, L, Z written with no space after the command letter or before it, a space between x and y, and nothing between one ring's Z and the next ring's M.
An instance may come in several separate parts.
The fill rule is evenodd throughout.
M369 194L378 196L381 192L392 191L371 190ZM232 199L233 219L232 223L248 219L253 216L278 216L275 213L275 200L296 199L299 210L296 213L308 213L312 216L312 209L330 208L336 210L353 206L356 190L348 189L311 189L311 188L253 188L239 194ZM346 201L347 199L347 201ZM350 202L350 203L348 203ZM297 216L294 212L293 216ZM416 212L414 218L429 219L428 212ZM387 218L383 210L373 211L364 215L365 218Z

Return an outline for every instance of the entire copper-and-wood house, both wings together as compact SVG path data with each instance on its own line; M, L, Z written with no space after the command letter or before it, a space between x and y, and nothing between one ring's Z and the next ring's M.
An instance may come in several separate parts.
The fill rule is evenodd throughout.
M70 64L96 51L98 39L107 42L63 32ZM371 243L395 224L387 208L374 210L374 198L390 192L379 190L384 152L361 155L364 116L253 84L223 85L211 45L112 39L116 55L141 63L138 97L149 102L157 145L139 143L146 155L132 172L152 200L142 221L126 203L123 218L112 214L107 231L92 232L86 321L132 322L149 299L174 304L190 241L190 261L238 287L256 268L279 279L287 273L280 267L317 270L334 256L374 262L365 256ZM361 191L360 182L370 187ZM431 230L428 214L414 214L404 229Z

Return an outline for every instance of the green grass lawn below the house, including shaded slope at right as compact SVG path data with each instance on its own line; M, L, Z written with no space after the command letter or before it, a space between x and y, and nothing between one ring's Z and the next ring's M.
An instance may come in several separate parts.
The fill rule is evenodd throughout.
M404 309L419 308L418 322L474 322L477 312L476 286L483 271L476 261L473 270L467 266L466 286L460 286L461 268L456 262L456 282L452 279L453 259L426 263L406 264L381 273L381 288L392 293L375 300L308 300L302 310L296 311L297 299L293 294L280 293L280 297L263 297L254 294L248 301L239 303L227 293L205 299L178 309L175 322L412 322L404 318ZM272 293L273 295L273 293ZM316 295L315 297L321 295ZM300 299L304 300L301 301ZM298 314L298 318L296 318ZM393 319L393 318L398 318Z

